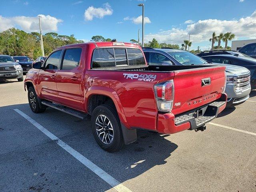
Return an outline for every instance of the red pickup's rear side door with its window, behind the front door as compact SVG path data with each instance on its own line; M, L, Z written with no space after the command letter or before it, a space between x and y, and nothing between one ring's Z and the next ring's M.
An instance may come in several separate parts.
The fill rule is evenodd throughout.
M77 110L82 110L80 58L82 48L64 50L64 56L56 76L59 103Z

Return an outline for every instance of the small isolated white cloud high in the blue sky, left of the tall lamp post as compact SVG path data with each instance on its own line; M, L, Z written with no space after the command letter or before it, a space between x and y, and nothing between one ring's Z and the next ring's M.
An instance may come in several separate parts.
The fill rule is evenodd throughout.
M84 20L91 21L94 17L102 19L104 16L112 14L113 10L108 3L103 4L103 8L90 6L84 12Z

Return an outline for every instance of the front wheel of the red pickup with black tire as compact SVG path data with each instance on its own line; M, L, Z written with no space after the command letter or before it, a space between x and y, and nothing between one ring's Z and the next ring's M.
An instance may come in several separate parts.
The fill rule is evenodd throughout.
M36 95L36 91L34 90L33 87L28 88L28 103L29 103L30 109L34 113L42 113L46 110L46 107L40 107L38 98Z

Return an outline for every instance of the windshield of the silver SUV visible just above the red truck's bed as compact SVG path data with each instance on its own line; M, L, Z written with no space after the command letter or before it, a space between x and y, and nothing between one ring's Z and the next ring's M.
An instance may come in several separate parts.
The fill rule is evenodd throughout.
M201 65L207 62L190 52L168 52L174 59L183 65Z

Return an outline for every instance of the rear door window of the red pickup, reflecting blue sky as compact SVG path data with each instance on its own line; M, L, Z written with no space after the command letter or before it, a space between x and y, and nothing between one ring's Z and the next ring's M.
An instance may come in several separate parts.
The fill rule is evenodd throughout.
M67 49L62 62L62 69L70 70L78 67L80 64L81 53L81 48Z

